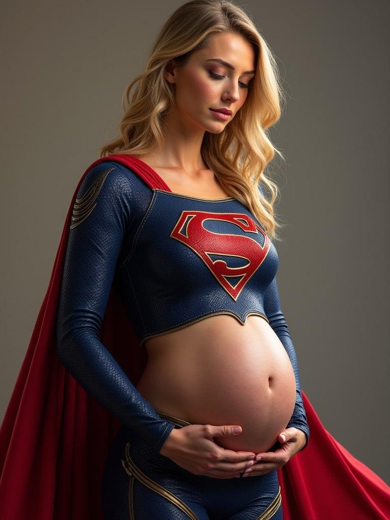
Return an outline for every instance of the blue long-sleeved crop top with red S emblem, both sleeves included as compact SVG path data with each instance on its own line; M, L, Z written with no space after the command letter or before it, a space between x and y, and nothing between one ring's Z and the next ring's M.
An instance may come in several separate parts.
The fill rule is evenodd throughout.
M305 448L309 428L280 309L278 263L264 228L234 197L209 200L151 189L131 167L96 164L73 205L57 314L58 358L101 406L159 452L174 425L159 416L99 339L112 285L140 344L217 314L242 324L258 315L290 358L296 403L287 427L305 432Z

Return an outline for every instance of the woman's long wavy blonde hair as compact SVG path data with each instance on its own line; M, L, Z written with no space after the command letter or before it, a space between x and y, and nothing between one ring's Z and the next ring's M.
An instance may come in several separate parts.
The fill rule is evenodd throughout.
M252 44L256 73L243 106L223 132L205 132L202 159L228 196L248 207L271 239L281 240L277 228L284 225L276 222L274 210L279 189L264 171L275 153L284 160L272 145L267 129L279 120L285 97L271 50L250 17L229 0L192 0L168 18L144 71L126 87L120 137L101 148L100 158L126 153L142 159L155 146L162 147L164 116L175 102L172 84L164 77L168 62L174 59L178 66L184 66L191 53L207 46L212 35L226 32L238 33ZM261 183L270 192L269 201Z

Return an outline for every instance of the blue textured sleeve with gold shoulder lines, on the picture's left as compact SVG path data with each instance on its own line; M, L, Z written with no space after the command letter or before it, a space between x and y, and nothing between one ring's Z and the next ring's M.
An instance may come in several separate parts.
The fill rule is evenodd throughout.
M132 197L131 178L116 163L96 165L83 179L62 274L57 355L90 396L159 452L174 425L159 417L98 337Z

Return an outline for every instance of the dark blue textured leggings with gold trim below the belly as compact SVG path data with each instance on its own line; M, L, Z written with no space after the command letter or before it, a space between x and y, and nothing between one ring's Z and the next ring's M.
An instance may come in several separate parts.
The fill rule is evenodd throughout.
M188 422L159 413L175 428ZM194 475L122 425L102 478L105 520L282 520L277 470L245 478Z

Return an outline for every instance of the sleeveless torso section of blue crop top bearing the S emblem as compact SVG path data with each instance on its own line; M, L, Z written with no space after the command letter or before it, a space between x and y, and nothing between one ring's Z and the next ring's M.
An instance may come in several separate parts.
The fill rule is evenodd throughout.
M216 314L267 319L263 298L278 264L275 246L238 200L154 190L118 287L145 342Z

